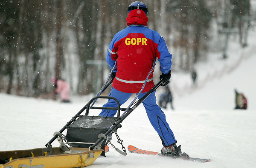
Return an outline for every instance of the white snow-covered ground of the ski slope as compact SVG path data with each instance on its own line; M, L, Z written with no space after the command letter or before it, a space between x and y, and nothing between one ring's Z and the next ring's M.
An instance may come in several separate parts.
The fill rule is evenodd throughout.
M188 75L172 74L174 107L164 110L177 145L191 157L211 159L198 163L159 156L122 156L111 146L107 157L99 157L91 168L252 168L256 167L256 33L250 32L249 46L231 45L227 60L199 63L198 87L190 87ZM179 78L180 77L180 78ZM176 82L174 82L176 81ZM248 109L235 110L234 89L247 97ZM186 94L181 91L186 90ZM158 90L159 95L161 89ZM73 97L71 104L0 93L0 151L44 147L55 131L64 126L92 95ZM97 105L105 101L97 102ZM128 103L122 107L128 106ZM99 112L90 112L97 115ZM140 105L118 131L123 144L160 151L159 136ZM113 137L112 143L121 149ZM53 146L59 146L57 142Z

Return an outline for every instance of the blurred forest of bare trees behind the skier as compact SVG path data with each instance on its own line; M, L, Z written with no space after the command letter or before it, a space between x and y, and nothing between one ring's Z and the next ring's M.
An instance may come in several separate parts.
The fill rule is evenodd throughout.
M1 0L0 92L46 95L51 78L69 82L72 94L99 91L114 34L126 27L131 0ZM226 50L230 36L247 46L256 21L255 0L143 0L148 27L173 54L172 72L190 73L209 53ZM160 73L160 72L159 72Z

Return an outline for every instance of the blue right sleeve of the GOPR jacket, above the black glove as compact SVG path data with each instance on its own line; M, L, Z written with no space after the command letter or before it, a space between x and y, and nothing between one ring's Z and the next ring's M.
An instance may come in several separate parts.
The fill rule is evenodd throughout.
M163 37L161 37L159 40L157 50L160 53L160 59L158 57L158 61L160 62L160 71L164 74L169 73L172 66L172 54L169 53Z

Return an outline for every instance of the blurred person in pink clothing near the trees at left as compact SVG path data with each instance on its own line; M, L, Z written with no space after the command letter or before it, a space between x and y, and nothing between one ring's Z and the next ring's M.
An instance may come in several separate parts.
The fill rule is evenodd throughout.
M66 81L56 78L52 78L52 83L55 84L55 94L60 93L61 95L61 102L70 102L70 85Z

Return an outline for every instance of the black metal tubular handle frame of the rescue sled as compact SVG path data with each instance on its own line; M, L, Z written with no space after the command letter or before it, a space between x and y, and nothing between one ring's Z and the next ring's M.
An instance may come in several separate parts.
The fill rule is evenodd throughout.
M104 92L113 82L113 78L111 81L109 81L108 84L106 84L106 86L103 88ZM108 134L110 134L111 132L115 131L119 124L122 123L122 121L128 117L128 115L131 114L131 112L133 112L134 109L137 108L137 106L139 106L144 100L145 98L148 97L148 95L150 95L152 92L154 92L161 84L163 84L164 81L163 79L161 79L151 90L149 90L144 96L143 98L139 99L137 102L135 102L133 104L133 106L131 108L128 109L128 111L122 115L122 117L120 117L120 110L125 111L126 108L120 108L120 104L119 101L116 98L110 97L110 96L96 96L94 98L92 98L70 121L67 122L67 124L65 126L62 127L62 129L60 129L59 133L64 132L65 129L67 129L68 126L70 126L71 123L73 123L77 118L80 117L81 113L84 112L84 110L86 109L85 115L89 114L89 109L113 109L113 110L117 110L117 120L115 123L113 123L113 125L110 127L110 129L108 129L107 132L105 132L105 134L99 134L98 136L98 140L92 144L92 146L90 146L90 150L98 150L100 144L106 139L106 137L108 136ZM110 99L114 99L118 105L117 108L114 107L93 107L90 106L90 104L92 104L93 102L95 102L96 99L98 98L110 98ZM60 134L55 134L51 140L49 140L49 142L45 145L48 146L49 144L51 144L57 137L59 137Z

